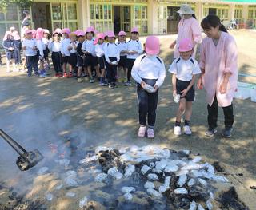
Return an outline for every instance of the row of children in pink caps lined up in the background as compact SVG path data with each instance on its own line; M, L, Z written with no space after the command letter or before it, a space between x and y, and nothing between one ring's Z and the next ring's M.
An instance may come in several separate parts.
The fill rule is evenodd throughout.
M116 41L113 31L96 34L93 26L86 32L56 29L51 38L48 30L25 30L22 50L25 51L28 76L32 69L35 74L46 76L43 63L49 64L51 52L55 77L77 77L79 83L83 80L94 83L97 79L99 85L109 85L110 89L117 86L117 81L130 86L134 61L143 52L138 28L130 32L130 40L126 42L125 31L118 33Z

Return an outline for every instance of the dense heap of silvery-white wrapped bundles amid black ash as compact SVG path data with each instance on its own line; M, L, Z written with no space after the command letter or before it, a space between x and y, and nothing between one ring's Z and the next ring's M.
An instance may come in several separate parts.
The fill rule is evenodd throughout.
M133 146L128 150L99 147L79 164L100 164L102 172L98 171L94 181L110 188L118 183L120 209L218 209L223 204L214 199L217 188L213 184L229 182L215 172L213 165L202 163L202 158L189 150L177 152L156 146ZM142 197L147 207L139 204Z

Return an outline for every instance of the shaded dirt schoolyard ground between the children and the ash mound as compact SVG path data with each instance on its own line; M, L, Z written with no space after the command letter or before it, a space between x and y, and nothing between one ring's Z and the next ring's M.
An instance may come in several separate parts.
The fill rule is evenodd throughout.
M234 35L238 44L239 73L254 76L239 76L238 81L256 83L256 32L233 30L230 34ZM175 37L166 35L160 38L160 57L168 66L173 56L168 46ZM142 42L143 40L145 38L142 38ZM51 76L53 75L52 72ZM26 77L24 73L7 74L5 66L2 66L0 126L17 138L20 135L30 137L33 133L34 136L31 135L34 142L31 140L31 145L42 145L43 148L52 141L46 139L48 130L58 135L79 128L85 135L88 134L86 145L89 146L152 144L170 149L190 149L193 153L200 153L204 160L210 163L218 160L224 164L227 178L235 185L240 199L251 210L256 209L256 191L250 189L250 186L256 186L256 104L250 99L234 100L234 133L230 139L222 138L219 133L224 121L222 109L219 109L218 134L209 138L204 136L207 129L205 93L197 90L191 119L193 135L175 137L173 127L177 105L174 103L171 89L170 74L166 73L165 83L159 92L156 137L154 141L149 141L137 137L138 108L135 85L129 88L118 85L117 89L108 89L99 87L97 83L78 84L72 78ZM27 112L33 112L34 116L26 116ZM58 121L58 125L45 125L51 120L45 120L44 117ZM27 121L30 123L26 126ZM65 121L63 127L62 121ZM19 141L26 142L25 139ZM10 180L11 185L14 177L25 175L15 168L14 160L13 164L6 160L16 156L3 141L0 141L0 151L0 182L4 180L8 183Z

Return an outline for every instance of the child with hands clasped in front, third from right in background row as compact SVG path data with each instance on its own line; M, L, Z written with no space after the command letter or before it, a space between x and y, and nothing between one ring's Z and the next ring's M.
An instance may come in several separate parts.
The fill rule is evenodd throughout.
M117 66L120 60L120 53L118 46L114 43L114 32L108 33L108 43L104 46L104 53L106 59L106 78L109 83L109 88L114 89L116 85Z

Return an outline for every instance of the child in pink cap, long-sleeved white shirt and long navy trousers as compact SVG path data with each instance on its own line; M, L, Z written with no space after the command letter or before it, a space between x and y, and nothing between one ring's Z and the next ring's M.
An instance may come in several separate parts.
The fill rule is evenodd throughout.
M166 77L165 64L158 53L159 39L154 36L146 38L146 54L136 58L131 75L137 82L138 94L138 137L154 138L154 124L158 106L158 89ZM154 66L154 68L152 68ZM148 129L146 129L146 120Z

